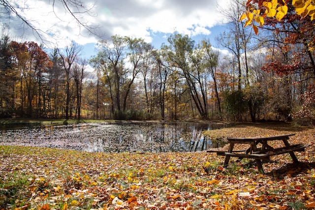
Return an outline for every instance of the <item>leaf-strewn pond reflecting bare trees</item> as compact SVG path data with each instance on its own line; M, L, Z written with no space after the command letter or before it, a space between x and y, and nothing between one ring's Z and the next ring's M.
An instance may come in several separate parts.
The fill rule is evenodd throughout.
M200 151L224 146L204 130L219 124L194 122L103 122L0 128L0 145L50 147L91 152Z

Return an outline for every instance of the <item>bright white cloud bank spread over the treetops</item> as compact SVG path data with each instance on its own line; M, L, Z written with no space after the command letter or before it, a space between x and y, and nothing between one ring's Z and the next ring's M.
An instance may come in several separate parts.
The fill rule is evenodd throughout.
M12 4L21 4L19 0L12 1ZM30 23L36 29L53 34L53 38L44 36L44 39L58 43L58 46L65 45L65 39L75 40L82 45L99 39L78 26L77 21L66 12L61 0L26 2L29 9L21 10L21 14L32 20ZM85 23L99 25L101 28L97 31L100 35L104 34L104 39L119 34L152 41L149 30L162 33L178 31L191 36L209 35L209 29L222 20L216 6L216 0L101 0L91 10L97 14L96 17L89 14L79 14L78 17ZM13 26L11 29L17 36L34 39L33 31L25 30L21 22L15 21Z

